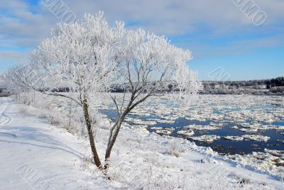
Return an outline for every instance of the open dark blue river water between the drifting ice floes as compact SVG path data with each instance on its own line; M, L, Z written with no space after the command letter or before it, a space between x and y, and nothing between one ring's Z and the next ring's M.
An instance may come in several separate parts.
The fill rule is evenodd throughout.
M238 109L234 109L238 111ZM230 110L232 111L232 110ZM116 118L116 111L109 111L109 110L102 110L102 113L107 115L108 118L111 120L115 120ZM214 113L222 114L221 111L214 110ZM223 111L224 113L224 111ZM133 116L129 114L129 118L140 118L143 121L151 121L151 119L157 118L157 116ZM252 123L253 121L247 120L246 123ZM155 125L148 125L149 132L154 132L152 127L162 127L162 128L174 128L175 130L172 133L174 137L186 138L185 136L178 135L178 130L181 130L187 125L209 125L209 123L220 123L220 121L214 120L207 120L207 121L196 121L196 120L187 120L185 118L178 118L175 120L175 123L157 123ZM133 123L129 123L133 125ZM263 123L266 124L266 123ZM283 126L284 121L275 121L270 123L271 125L276 126ZM135 124L137 125L137 124ZM214 151L217 151L221 154L249 154L251 152L263 152L265 148L271 150L284 150L284 130L258 130L257 133L248 133L248 132L241 132L238 129L231 128L232 126L236 125L240 127L240 125L236 123L226 122L223 123L223 127L217 130L195 130L195 135L193 136L200 136L200 135L219 135L221 138L219 140L214 140L213 143L207 144L195 141L197 145L204 146L204 147L211 147ZM252 140L241 140L241 141L232 141L232 140L225 140L224 136L241 136L241 135L264 135L270 137L268 142L256 142ZM188 139L190 140L190 139ZM280 142L281 140L281 142Z

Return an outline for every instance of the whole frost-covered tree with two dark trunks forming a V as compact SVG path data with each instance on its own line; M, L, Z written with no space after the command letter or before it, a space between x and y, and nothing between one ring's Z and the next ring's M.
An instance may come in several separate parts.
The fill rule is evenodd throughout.
M52 38L44 40L31 53L31 63L13 69L14 86L61 96L82 107L95 164L104 174L109 167L111 150L124 119L138 104L151 96L166 96L171 101L190 104L202 84L187 67L189 50L182 50L165 37L144 30L126 30L124 23L109 26L103 13L86 15L82 21L60 23ZM60 93L60 87L70 93ZM121 100L109 93L113 87L124 91ZM110 94L117 118L109 131L103 165L97 153L90 109L102 94Z

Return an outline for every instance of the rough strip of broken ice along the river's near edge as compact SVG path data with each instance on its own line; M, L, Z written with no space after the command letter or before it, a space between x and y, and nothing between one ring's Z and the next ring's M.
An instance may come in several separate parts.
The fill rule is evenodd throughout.
M102 120L104 125L110 125L109 123L111 123L111 120L107 118L107 116L104 116ZM195 142L191 142L190 140L169 136L168 132L172 131L173 129L170 128L168 130L163 130L162 128L154 128L154 129L159 130L158 131L159 133L149 133L149 131L146 129L146 126L144 125L140 125L140 127L138 127L137 125L131 126L125 123L123 125L123 128L121 129L121 133L131 133L136 137L146 139L147 141L153 141L154 143L158 143L161 146L169 145L170 142L175 142L178 144L176 145L177 147L175 147L178 148L178 152L194 151L202 154L204 157L209 158L211 160L218 160L218 162L220 161L228 162L234 164L235 167L242 167L245 169L249 169L253 172L258 172L259 174L268 174L276 180L280 181L283 180L284 167L275 167L275 163L272 162L275 156L270 155L269 153L267 153L268 155L266 156L267 158L266 160L256 159L256 155L261 155L262 152L253 152L253 154L251 155L228 155L228 156L219 155L219 153L212 150L211 147L198 146L195 144ZM192 133L190 135L192 135ZM218 138L220 137L218 136L216 136L216 138L214 137L214 139ZM201 137L200 140L210 141L211 137L205 135L204 138ZM182 153L177 153L177 154L180 155Z

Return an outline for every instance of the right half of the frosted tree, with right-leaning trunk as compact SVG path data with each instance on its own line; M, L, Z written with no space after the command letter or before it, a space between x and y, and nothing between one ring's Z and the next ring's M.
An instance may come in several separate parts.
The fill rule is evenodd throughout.
M185 104L196 98L202 89L197 74L190 71L187 61L191 59L189 50L171 45L165 37L146 33L144 30L129 30L119 53L119 73L116 85L124 91L122 100L111 96L116 106L116 122L109 133L105 160L109 160L112 147L119 135L124 118L138 104L151 96L166 96L172 101ZM169 88L169 86L174 86ZM130 96L126 97L129 92ZM105 165L105 168L108 164Z

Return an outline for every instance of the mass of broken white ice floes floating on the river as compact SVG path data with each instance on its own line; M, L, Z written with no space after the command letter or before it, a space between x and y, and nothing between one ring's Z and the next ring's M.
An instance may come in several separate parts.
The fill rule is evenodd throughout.
M269 140L266 135L261 136L264 130L278 130L267 133L269 134L268 136L271 135L270 137L275 133L284 135L284 125L281 125L281 122L284 121L284 99L282 96L208 95L201 96L201 98L203 100L199 102L198 106L190 106L189 109L180 105L169 106L171 104L161 100L160 97L153 97L148 101L149 106L141 105L134 111L131 111L131 114L137 117L130 117L129 122L133 121L133 123L139 123L140 126L143 126L149 125L148 121L155 121L156 123L160 123L160 126L163 126L163 123L172 124L175 123L178 118L185 118L188 120L189 124L195 123L195 125L187 124L188 126L186 128L179 129L180 132L178 132L178 134L182 135L183 138L190 138L192 140L200 140L203 142L207 140L208 143L212 143L212 137L205 138L205 134L203 134L205 136L202 138L193 137L190 131L194 130L195 133L207 133L207 131L212 130L210 131L211 135L219 135L219 131L214 132L214 130L226 128L229 124L226 130L233 133L232 136L226 136L224 139L235 140L236 143L237 140L239 140L239 143L244 139L257 140L263 143L261 143L261 145L255 143L258 144L258 147L249 147L249 149L256 150L256 148L261 148L261 151L263 150L262 147L266 145L266 141ZM109 104L103 104L102 107L107 109ZM115 111L114 106L109 107L109 109ZM144 122L145 118L140 116L151 116L151 118L148 118L147 121ZM274 122L280 122L280 125L275 125ZM131 123L131 125L133 125L133 123ZM207 125L203 125L203 123ZM178 125L178 122L175 124ZM168 130L167 128L151 129L154 131L157 130L157 133L160 133L160 135L173 134L173 130ZM141 128L141 130L143 130L143 128ZM244 136L239 135L239 130L243 131ZM162 138L160 135L157 136ZM284 140L280 137L277 142L268 141L267 145L271 145L271 143L277 143L283 146ZM277 149L283 150L283 147L280 146L278 146ZM255 166L260 170L273 171L275 174L279 174L279 167L275 167L275 165L281 165L283 160L281 161L280 159L281 157L275 157L268 152L240 155L239 158L239 160L244 160L245 164ZM281 172L284 172L284 169L282 169Z

